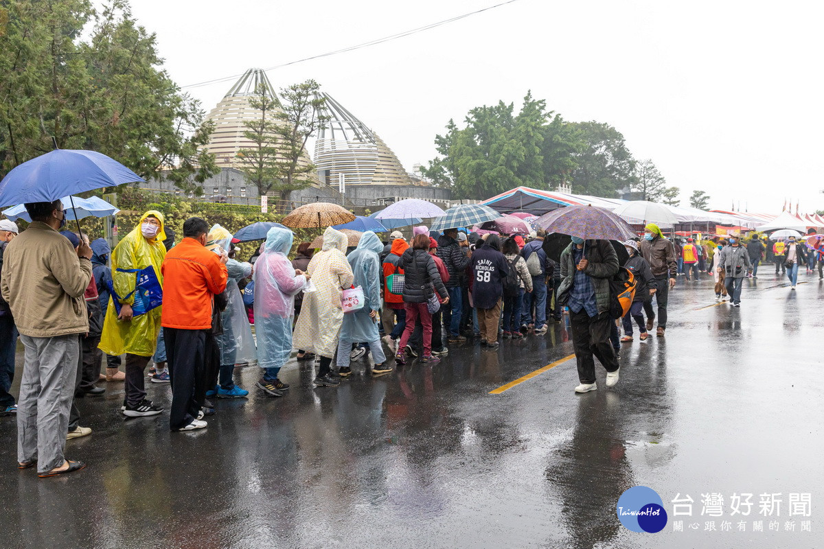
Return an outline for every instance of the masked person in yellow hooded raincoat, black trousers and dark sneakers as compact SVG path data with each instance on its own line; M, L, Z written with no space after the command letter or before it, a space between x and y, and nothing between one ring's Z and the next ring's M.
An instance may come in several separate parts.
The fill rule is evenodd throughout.
M163 411L162 407L155 406L146 398L144 386L144 370L155 352L157 334L161 328L161 307L133 316L133 291L137 277L135 272L123 271L152 267L157 281L162 285L160 268L166 257L163 240L166 240L163 214L149 210L111 254L113 285L120 303L120 313L110 302L99 347L109 355L126 354L126 398L121 410L129 417L156 416ZM110 300L115 300L115 295L111 295Z

